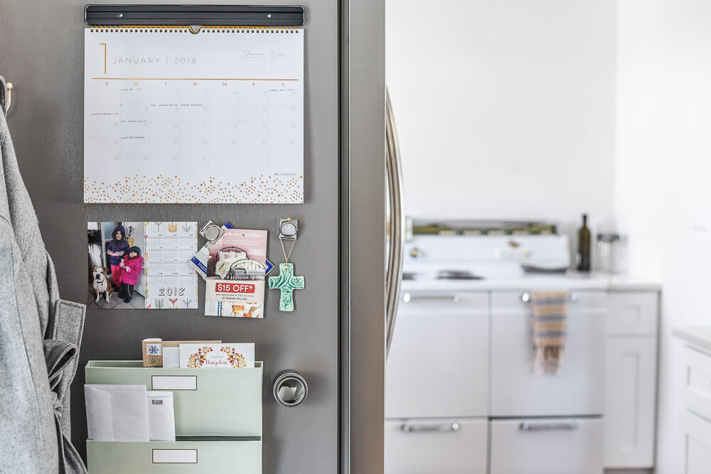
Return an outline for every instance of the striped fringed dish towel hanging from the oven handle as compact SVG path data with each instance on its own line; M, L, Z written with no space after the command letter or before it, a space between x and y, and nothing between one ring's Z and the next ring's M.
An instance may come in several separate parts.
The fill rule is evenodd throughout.
M568 322L567 291L531 291L533 370L555 374L565 348Z

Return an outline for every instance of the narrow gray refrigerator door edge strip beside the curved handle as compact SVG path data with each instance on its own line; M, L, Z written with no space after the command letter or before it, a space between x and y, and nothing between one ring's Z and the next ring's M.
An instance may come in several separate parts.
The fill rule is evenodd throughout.
M383 473L385 393L385 2L344 1L342 472ZM350 470L348 470L350 469Z

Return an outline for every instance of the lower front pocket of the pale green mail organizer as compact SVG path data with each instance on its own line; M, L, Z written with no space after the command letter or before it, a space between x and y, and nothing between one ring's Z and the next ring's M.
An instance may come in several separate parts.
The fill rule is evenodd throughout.
M91 474L262 474L262 440L87 440L87 464Z

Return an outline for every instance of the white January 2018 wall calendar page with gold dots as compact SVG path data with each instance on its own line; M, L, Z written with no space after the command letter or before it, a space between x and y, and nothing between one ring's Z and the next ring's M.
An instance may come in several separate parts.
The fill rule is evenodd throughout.
M84 84L85 203L304 202L303 30L87 28Z

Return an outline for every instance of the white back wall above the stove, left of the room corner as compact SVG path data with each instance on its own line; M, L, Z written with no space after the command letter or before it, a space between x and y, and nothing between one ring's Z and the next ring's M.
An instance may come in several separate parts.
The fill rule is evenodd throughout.
M385 3L407 214L609 227L615 2Z

